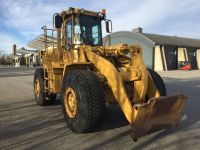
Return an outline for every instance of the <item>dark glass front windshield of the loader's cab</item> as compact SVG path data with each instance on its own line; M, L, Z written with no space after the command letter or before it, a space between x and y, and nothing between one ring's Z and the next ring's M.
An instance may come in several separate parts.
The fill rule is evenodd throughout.
M74 44L102 45L101 19L86 15L76 16Z

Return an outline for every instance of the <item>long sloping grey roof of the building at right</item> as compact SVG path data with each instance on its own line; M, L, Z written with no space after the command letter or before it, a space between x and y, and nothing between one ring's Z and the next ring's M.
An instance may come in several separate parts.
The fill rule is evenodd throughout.
M195 47L200 48L200 40L192 38L183 38L177 36L166 36L166 35L157 35L150 33L140 33L150 40L154 41L155 44L159 45L173 45L173 46L185 46L185 47Z

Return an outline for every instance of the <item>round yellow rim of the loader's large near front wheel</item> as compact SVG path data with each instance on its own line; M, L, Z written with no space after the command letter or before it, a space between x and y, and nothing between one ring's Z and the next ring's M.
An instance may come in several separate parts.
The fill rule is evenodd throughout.
M76 101L76 95L74 93L74 90L70 87L68 87L65 90L64 105L65 105L65 110L67 112L67 115L70 118L74 118L77 112L77 101Z

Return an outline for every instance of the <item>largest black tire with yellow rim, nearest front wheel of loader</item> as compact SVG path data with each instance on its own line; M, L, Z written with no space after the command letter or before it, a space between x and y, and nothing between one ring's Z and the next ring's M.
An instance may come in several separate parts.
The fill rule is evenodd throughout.
M68 91L74 95L72 99L75 98L73 104L76 105L72 109L69 109ZM62 85L61 103L65 121L72 131L93 131L100 124L105 110L103 89L97 75L85 70L67 72Z

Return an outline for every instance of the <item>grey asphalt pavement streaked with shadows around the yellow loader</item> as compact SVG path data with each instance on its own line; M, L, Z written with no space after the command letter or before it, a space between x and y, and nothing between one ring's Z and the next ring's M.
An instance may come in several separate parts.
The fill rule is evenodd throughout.
M75 134L64 122L59 96L55 105L36 105L33 75L0 77L0 149L199 150L200 78L191 75L178 79L176 74L167 74L164 80L168 95L183 93L188 97L182 122L177 128L133 142L129 124L118 106L107 106L104 120L96 131Z

